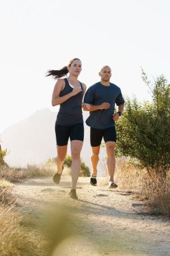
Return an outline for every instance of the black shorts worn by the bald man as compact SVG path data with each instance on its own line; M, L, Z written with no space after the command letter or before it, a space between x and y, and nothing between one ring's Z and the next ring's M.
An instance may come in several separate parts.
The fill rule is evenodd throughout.
M91 147L97 147L101 144L102 138L105 142L114 141L116 142L116 127L110 127L107 129L90 129L90 142Z

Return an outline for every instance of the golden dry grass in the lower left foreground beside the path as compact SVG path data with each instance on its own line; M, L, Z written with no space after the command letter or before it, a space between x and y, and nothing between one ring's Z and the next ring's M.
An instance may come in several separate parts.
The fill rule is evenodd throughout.
M45 255L42 254L43 237L32 228L34 220L15 210L16 199L11 195L11 183L1 181L0 187L0 255ZM28 225L23 224L29 223ZM45 244L45 243L44 243ZM41 249L38 245L41 245Z

